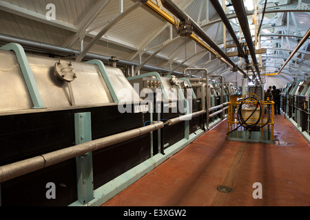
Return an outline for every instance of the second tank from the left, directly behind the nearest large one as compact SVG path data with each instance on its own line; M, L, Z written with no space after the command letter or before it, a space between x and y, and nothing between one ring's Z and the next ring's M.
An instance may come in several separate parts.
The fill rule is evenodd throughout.
M156 72L127 78L138 93L149 91L154 107L151 121L167 122L181 115L195 113L201 110L201 101L196 95L187 78L176 76L160 76ZM193 117L178 124L165 126L154 132L154 155L165 153L165 149L186 138L203 126L203 115ZM158 147L157 147L158 146Z

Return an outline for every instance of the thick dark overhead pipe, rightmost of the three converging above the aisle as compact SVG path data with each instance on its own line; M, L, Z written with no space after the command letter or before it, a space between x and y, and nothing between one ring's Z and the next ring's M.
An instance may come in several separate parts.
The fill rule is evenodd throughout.
M245 36L245 41L247 41L247 47L249 47L249 52L251 54L254 67L256 69L256 72L258 73L258 78L261 82L260 69L258 68L258 62L255 54L255 47L252 41L251 31L249 29L249 22L247 20L247 13L245 12L245 4L243 3L242 0L231 0L231 3L234 5L234 9L238 17L240 26L242 28L243 35Z

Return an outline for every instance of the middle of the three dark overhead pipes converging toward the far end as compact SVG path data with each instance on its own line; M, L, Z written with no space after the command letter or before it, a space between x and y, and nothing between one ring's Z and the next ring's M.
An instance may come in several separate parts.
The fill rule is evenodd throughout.
M212 5L214 6L216 12L218 12L218 15L220 16L220 19L222 19L223 23L225 24L229 34L231 35L232 39L234 40L234 42L236 43L236 46L238 48L238 52L241 54L242 58L245 59L245 63L249 64L249 58L248 56L245 54L245 52L243 51L241 45L240 45L240 42L234 32L234 29L232 28L229 20L227 19L227 16L222 8L222 5L220 5L220 2L218 0L210 0ZM253 75L255 75L255 72L253 70L253 68L251 67L250 68L251 71L253 72Z

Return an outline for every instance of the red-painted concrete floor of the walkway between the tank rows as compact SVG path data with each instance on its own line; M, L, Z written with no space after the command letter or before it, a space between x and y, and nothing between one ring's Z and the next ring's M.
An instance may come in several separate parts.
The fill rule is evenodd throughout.
M227 140L225 120L103 206L310 206L309 143L283 115L275 122L279 142L262 144Z

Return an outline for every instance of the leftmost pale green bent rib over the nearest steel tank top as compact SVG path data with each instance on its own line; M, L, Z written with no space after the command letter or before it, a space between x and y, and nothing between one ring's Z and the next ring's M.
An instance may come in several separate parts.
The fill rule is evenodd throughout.
M21 67L21 72L23 73L23 78L25 79L30 97L34 104L34 109L45 109L23 47L18 43L8 43L7 45L0 47L0 50L12 50L15 52L17 61L19 61L19 67Z

